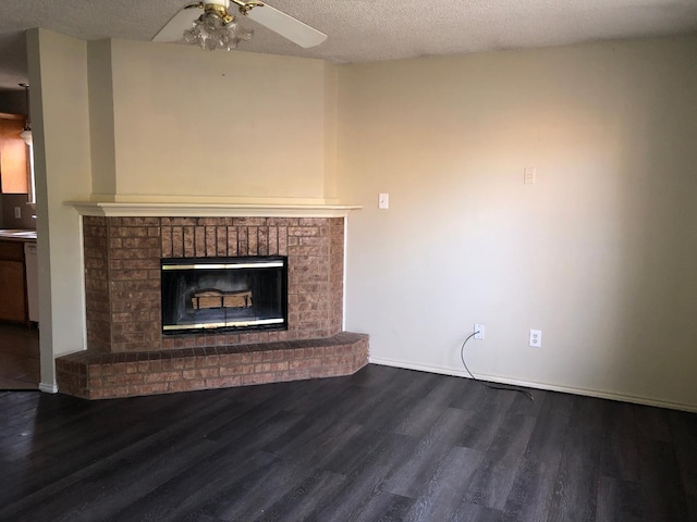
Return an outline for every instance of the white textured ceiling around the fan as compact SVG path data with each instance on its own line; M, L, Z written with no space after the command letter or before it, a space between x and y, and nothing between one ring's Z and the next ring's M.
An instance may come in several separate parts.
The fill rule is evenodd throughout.
M1 0L0 89L26 82L23 32L149 40L193 0ZM697 33L697 0L269 0L329 35L302 49L254 26L243 51L339 63ZM201 51L204 52L204 51ZM224 52L224 51L216 51ZM237 52L237 51L233 51Z

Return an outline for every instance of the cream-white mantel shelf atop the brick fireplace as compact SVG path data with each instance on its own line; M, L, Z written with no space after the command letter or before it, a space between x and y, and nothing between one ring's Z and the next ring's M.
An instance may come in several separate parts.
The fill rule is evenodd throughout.
M66 201L81 215L106 217L345 217L357 206Z

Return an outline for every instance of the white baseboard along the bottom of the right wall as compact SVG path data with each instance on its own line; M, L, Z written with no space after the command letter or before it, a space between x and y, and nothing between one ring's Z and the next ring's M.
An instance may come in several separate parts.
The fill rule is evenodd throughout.
M403 368L405 370L417 370L419 372L439 373L442 375L453 375L456 377L470 378L465 371L452 370L448 368L430 366L427 364L414 364L411 362L394 361L391 359L382 359L379 357L370 357L368 358L368 361L372 364L381 364L383 366ZM561 386L558 384L519 381L516 378L501 377L499 375L485 375L481 373L478 373L476 377L482 381L489 381L492 383L512 384L515 386L523 386L526 388L547 389L550 391L562 391L564 394L583 395L586 397L597 397L599 399L619 400L622 402L633 402L635 405L655 406L658 408L669 408L671 410L697 412L697 405L671 402L667 400L655 399L651 397L637 397L634 395L624 395L624 394L617 394L613 391L602 391L598 389L586 389L586 388L576 388L572 386Z

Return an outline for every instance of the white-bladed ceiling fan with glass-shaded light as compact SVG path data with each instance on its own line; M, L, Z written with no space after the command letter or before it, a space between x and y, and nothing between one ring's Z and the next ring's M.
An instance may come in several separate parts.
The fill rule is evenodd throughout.
M237 22L231 8L304 48L318 46L327 39L323 33L257 0L205 0L185 5L155 35L152 41L179 41L184 37L188 44L198 45L201 49L235 49L240 41L252 38L253 30Z

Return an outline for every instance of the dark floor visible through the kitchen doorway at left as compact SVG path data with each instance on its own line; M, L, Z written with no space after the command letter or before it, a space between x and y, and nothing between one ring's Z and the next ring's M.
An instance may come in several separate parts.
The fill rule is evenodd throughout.
M39 369L38 330L0 324L0 390L38 389Z

